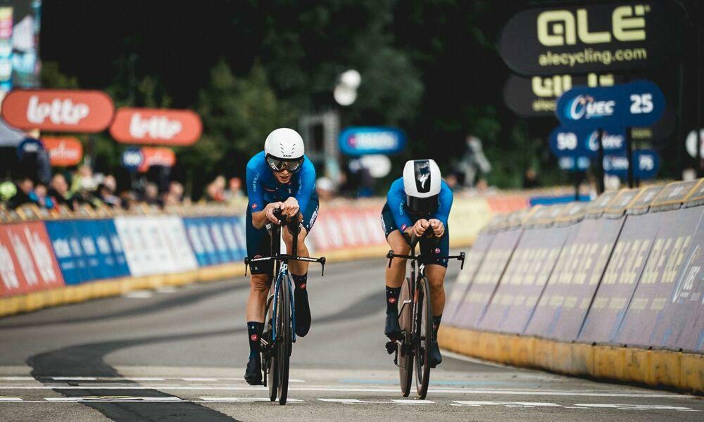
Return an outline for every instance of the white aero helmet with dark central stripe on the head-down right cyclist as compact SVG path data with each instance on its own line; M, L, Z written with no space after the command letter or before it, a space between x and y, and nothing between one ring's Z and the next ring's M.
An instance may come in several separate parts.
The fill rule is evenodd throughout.
M408 210L427 214L437 210L440 198L440 168L435 160L410 160L403 167L403 191Z

